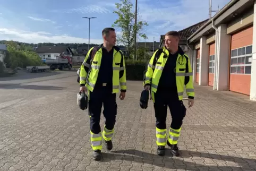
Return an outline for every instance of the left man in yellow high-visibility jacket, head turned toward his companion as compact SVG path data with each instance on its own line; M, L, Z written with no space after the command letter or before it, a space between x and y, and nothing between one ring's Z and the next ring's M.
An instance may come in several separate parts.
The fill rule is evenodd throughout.
M116 33L113 28L102 31L104 43L89 50L80 69L80 91L89 95L88 110L90 116L91 147L93 158L101 160L100 114L106 118L102 133L107 150L112 150L112 136L116 122L116 93L121 88L119 98L125 97L126 73L124 56L116 47Z

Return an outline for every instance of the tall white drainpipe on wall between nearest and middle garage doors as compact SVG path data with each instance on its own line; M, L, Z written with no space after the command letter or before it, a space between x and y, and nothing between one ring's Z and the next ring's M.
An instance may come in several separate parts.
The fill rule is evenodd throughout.
M215 20L212 19L211 20L211 26L212 28L215 29L215 59L214 59L214 63L215 63L215 70L214 70L214 90L217 90L217 85L218 85L218 79L217 79L217 75L218 75L218 50L219 50L219 46L218 46L218 41L219 41L219 32L218 32L218 28L215 27Z

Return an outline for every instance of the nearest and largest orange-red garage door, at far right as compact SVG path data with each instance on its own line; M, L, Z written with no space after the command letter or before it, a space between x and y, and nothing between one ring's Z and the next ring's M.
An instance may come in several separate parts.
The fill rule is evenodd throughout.
M229 90L250 95L253 27L231 36Z

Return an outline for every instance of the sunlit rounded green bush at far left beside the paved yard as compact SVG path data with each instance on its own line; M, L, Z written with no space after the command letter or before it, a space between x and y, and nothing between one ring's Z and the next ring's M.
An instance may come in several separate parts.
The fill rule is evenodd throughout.
M7 41L7 53L4 58L6 67L15 69L15 67L40 66L42 65L41 58L38 54L32 51L32 48L25 45L19 45L13 41Z

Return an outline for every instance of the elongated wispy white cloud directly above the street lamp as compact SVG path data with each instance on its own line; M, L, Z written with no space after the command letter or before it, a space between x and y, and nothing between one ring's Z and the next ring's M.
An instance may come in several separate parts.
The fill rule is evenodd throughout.
M107 13L112 13L112 11L109 11L106 7L99 6L99 5L87 5L87 6L82 6L82 7L78 7L78 8L71 8L71 9L68 9L68 10L61 10L61 11L52 10L51 12L81 13L81 14L89 14L89 13L107 14Z

